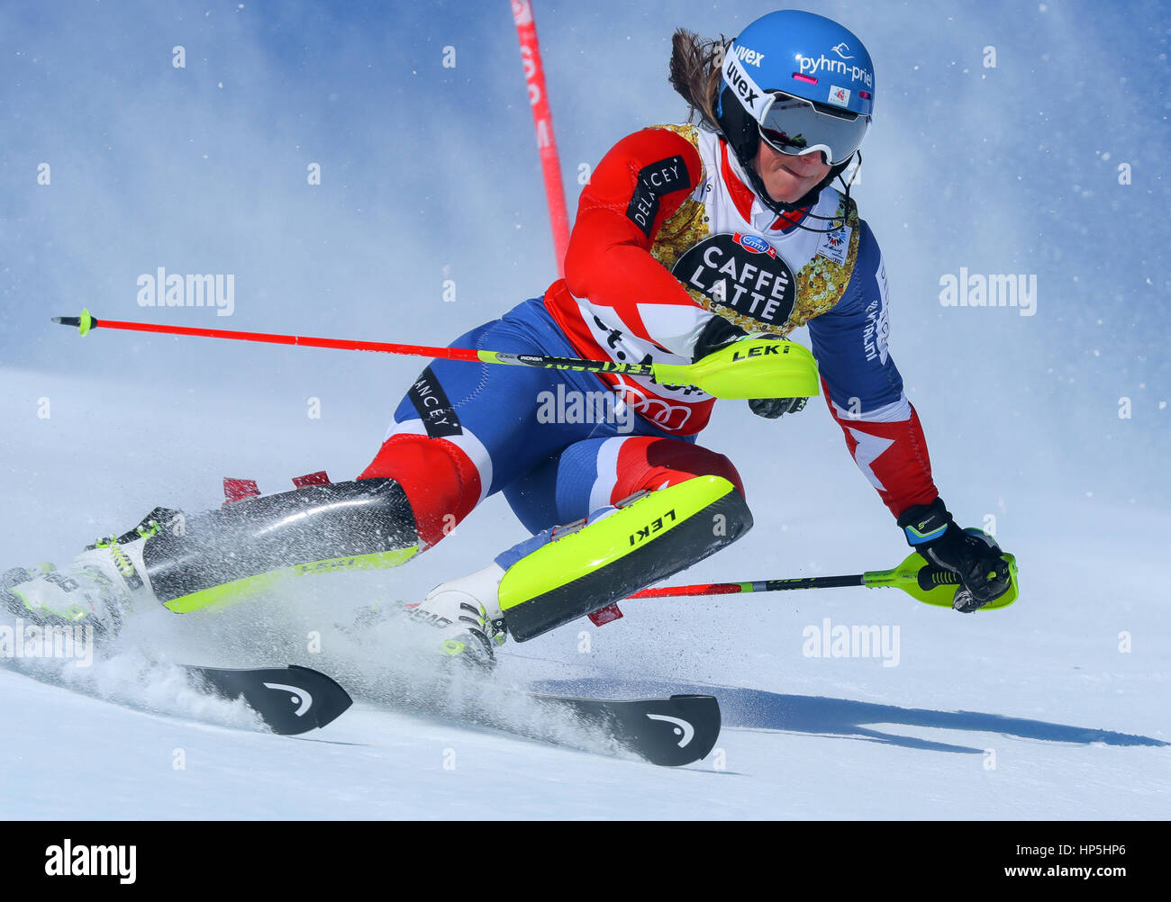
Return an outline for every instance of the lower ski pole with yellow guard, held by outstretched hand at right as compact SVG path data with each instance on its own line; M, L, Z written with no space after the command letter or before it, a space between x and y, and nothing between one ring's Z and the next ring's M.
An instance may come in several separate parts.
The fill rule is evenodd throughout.
M1016 600L1016 558L1012 555L1002 556L1008 562L1009 586L995 601L992 601L980 611L995 611L1008 607ZM797 577L796 579L763 579L746 583L700 583L691 586L658 586L644 588L628 595L624 600L641 600L646 598L683 598L687 595L734 595L746 592L785 592L796 588L841 588L844 586L865 586L867 588L893 587L902 588L916 601L937 607L951 607L959 586L959 576L950 570L934 567L917 551L912 551L897 567L891 570L868 570L865 573L855 573L841 577ZM617 604L603 607L595 614L590 614L598 626L617 620L622 612L617 610ZM598 622L601 621L601 622Z

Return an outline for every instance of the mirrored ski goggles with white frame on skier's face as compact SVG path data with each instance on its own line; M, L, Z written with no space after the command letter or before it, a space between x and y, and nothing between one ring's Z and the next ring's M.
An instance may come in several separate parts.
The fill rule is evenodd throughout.
M817 108L803 97L774 92L758 122L760 138L778 153L801 157L822 151L829 165L845 163L867 135L870 117Z

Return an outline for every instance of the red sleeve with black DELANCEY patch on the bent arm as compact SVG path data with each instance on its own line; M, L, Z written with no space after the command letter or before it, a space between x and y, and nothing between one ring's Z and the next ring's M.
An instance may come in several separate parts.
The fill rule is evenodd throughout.
M650 248L663 222L701 178L698 151L673 131L644 129L615 144L577 204L566 254L569 290L615 308L642 338L651 340L636 303L694 307Z

